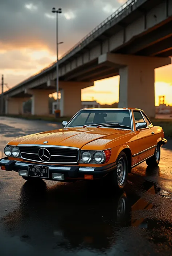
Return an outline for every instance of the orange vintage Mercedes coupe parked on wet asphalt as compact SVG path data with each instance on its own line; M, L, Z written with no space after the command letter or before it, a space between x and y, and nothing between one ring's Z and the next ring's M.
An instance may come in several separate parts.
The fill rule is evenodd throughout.
M134 108L82 109L62 125L63 129L10 141L4 148L7 157L0 159L1 169L33 182L106 177L123 189L133 167L144 161L159 164L160 148L167 142L163 129Z

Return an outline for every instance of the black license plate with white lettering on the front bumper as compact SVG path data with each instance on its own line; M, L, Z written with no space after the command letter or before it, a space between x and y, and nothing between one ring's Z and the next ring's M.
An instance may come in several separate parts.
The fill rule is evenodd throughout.
M28 167L29 176L49 178L49 167L29 164Z

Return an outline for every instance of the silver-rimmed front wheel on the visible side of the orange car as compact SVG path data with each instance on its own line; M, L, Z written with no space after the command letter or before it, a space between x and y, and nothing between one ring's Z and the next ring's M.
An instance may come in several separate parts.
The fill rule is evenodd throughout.
M116 160L117 169L112 173L112 186L116 190L122 190L127 182L128 177L128 160L126 154L121 152Z

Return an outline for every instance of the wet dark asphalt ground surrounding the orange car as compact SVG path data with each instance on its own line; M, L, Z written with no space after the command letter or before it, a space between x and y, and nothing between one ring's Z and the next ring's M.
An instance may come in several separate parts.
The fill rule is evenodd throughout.
M60 124L0 117L8 141ZM25 182L0 170L0 255L172 255L172 142L159 167L132 170L117 194L102 183Z

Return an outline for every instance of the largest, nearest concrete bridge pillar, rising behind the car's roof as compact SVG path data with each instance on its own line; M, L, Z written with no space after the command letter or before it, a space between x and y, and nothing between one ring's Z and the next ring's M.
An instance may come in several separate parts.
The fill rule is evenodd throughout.
M154 69L171 64L171 58L106 53L99 57L103 63L119 66L118 107L136 107L155 117Z

